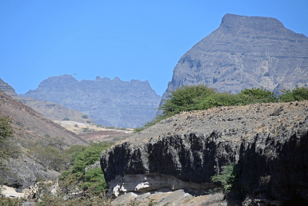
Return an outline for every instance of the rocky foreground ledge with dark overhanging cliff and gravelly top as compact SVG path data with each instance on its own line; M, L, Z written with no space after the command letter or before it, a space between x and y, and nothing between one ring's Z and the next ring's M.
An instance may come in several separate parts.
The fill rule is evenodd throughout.
M282 111L274 116L276 109ZM221 107L165 119L102 154L109 194L206 191L213 187L211 176L236 162L243 196L308 201L307 116L308 102L302 101Z

